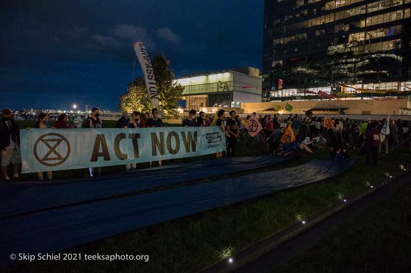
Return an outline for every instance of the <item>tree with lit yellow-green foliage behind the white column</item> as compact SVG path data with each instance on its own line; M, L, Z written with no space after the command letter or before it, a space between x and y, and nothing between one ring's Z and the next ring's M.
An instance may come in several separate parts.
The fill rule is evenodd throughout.
M182 99L184 86L174 81L173 69L168 68L170 61L165 60L164 55L156 55L152 64L159 108L167 114L176 114L177 102ZM128 83L127 93L120 95L119 101L118 109L120 111L147 111L153 108L142 76L138 76L132 83Z

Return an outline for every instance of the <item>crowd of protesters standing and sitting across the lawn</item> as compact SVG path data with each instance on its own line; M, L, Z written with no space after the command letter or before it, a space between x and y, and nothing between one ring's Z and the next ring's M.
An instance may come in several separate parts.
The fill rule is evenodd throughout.
M20 155L20 130L17 123L12 119L10 109L2 110L0 128L0 150L2 151L1 168L6 181L10 180L8 167L13 164L13 179L18 179L21 169ZM122 117L117 121L117 128L158 128L163 127L162 115L157 108L149 112L133 111L129 114L122 112ZM104 128L104 122L99 118L100 110L96 107L91 109L91 116L83 121L81 115L76 117L74 125L67 123L67 115L62 113L55 122L55 128ZM182 127L208 127L218 126L226 135L227 157L235 156L235 147L240 139L248 149L256 141L261 141L267 147L270 154L279 156L300 156L303 153L314 153L316 150L329 150L330 159L348 159L349 150L359 149L366 155L366 164L377 166L378 154L388 154L389 148L403 146L410 149L409 132L404 132L403 123L399 119L381 121L358 121L346 118L324 118L310 117L290 114L277 116L274 114L256 116L256 113L244 116L240 119L235 110L228 113L220 109L213 117L200 111L197 116L196 110L190 110L188 117L182 120ZM84 124L84 127L82 127ZM166 127L166 126L165 126ZM48 124L48 115L40 113L35 121L34 128L51 128ZM27 130L30 128L26 128ZM223 157L223 152L217 152L216 158ZM185 158L184 162L189 162ZM161 166L161 160L158 162ZM152 166L152 162L150 162ZM125 165L126 171L136 169L136 163ZM101 167L90 167L89 176L101 175ZM38 172L39 180L43 180L43 172ZM52 172L47 171L48 180L52 179Z

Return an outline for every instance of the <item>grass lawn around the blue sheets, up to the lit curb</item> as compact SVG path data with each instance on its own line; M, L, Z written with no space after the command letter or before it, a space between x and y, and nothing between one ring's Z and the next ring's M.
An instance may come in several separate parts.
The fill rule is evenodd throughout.
M250 149L246 149L244 141L241 140L236 148L238 156L267 154L266 148L259 142L256 142ZM293 223L301 221L310 214L338 201L343 196L348 197L359 189L369 187L373 181L381 179L386 173L399 172L400 164L404 166L409 164L408 150L405 148L396 148L388 155L381 154L378 167L366 166L364 155L359 154L358 150L350 150L349 154L351 158L356 159L356 163L338 177L124 232L120 235L60 251L61 253L81 253L82 255L97 253L104 255L115 253L119 255L149 255L148 262L34 261L11 265L3 268L2 271L191 272L201 270ZM214 157L215 155L211 154L197 157L194 160ZM328 159L328 150L316 151L314 154L304 153L298 161L260 168L253 170L252 173L293 167L313 159ZM169 163L178 162L181 161L170 160ZM145 163L138 167L142 167L143 164ZM103 172L119 170L124 171L124 166L103 168ZM246 173L250 172L227 174L218 178L185 182L174 186L206 183ZM62 177L70 177L70 175L78 177L82 174L70 170L61 171L61 175ZM156 190L161 189L163 188L160 187Z

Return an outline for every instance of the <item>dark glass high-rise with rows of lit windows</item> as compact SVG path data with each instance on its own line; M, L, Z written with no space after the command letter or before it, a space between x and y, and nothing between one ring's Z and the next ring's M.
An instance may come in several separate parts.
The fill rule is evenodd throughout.
M338 83L409 91L411 0L265 0L264 5L263 89L272 91L262 93L263 101L313 96L304 90L351 92ZM409 98L409 92L404 95Z

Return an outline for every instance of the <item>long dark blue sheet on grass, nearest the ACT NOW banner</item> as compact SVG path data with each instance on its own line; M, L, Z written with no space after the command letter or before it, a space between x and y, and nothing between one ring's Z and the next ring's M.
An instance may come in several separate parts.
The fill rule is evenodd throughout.
M157 186L234 173L293 159L293 157L225 158L141 169L98 179L0 184L0 218L54 208Z

